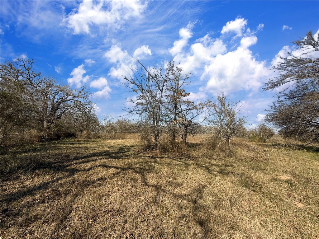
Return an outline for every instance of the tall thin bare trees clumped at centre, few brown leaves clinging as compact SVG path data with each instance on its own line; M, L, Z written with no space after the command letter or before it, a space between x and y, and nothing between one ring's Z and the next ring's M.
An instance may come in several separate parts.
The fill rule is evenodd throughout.
M129 100L134 107L127 111L151 126L155 144L164 127L172 143L178 133L186 143L188 133L194 133L206 118L198 119L207 108L207 103L196 104L187 99L189 93L184 87L189 84L186 80L190 73L183 74L183 69L174 61L168 62L165 69L147 69L138 63L140 68L133 68L133 75L124 77L130 91L136 93L136 97Z

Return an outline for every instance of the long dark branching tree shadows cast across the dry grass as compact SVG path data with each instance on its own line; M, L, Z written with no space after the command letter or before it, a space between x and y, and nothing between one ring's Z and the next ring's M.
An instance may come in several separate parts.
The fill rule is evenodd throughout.
M186 202L190 205L189 212L190 214L182 215L181 217L187 217L189 220L192 220L195 222L195 224L201 228L203 236L202 238L206 238L208 235L213 233L211 231L210 227L210 215L207 214L209 211L209 208L207 205L201 202L201 200L204 198L204 190L206 185L199 183L196 187L192 188L189 192L185 193L177 193L172 190L168 190L165 186L160 185L157 183L150 183L147 179L147 175L149 173L156 172L156 166L166 166L170 167L170 164L172 163L181 163L186 170L191 167L195 166L196 168L202 169L208 174L211 175L226 175L227 171L229 171L229 168L233 165L229 163L213 163L213 162L201 162L198 159L184 159L184 158L167 158L168 162L162 162L161 160L155 160L159 159L160 157L147 157L144 156L145 159L143 161L143 158L140 158L139 161L123 161L123 166L118 165L112 165L114 164L114 159L116 160L125 160L130 159L132 156L136 157L137 154L135 152L132 152L134 146L126 146L126 145L120 145L120 146L114 146L110 145L108 146L107 150L93 152L89 154L84 154L80 156L71 156L67 153L50 153L50 159L45 162L38 162L35 163L32 170L29 171L21 171L21 174L29 174L30 176L35 171L41 171L41 170L49 170L52 173L59 173L59 176L56 176L55 178L52 178L48 181L42 182L38 185L34 186L26 186L22 187L17 191L14 192L3 192L1 195L2 205L4 205L3 209L1 210L2 218L4 220L4 227L9 227L9 218L15 218L19 217L23 214L22 211L14 211L10 205L13 205L15 201L18 201L20 199L24 198L30 198L34 197L35 195L39 195L42 197L42 199L39 199L36 202L33 202L32 206L35 206L36 204L42 204L43 200L46 200L43 195L45 192L52 190L54 191L54 197L60 198L60 197L69 197L69 201L65 202L65 205L63 205L63 213L60 215L60 218L58 223L56 224L55 228L56 230L61 230L65 225L65 221L67 221L70 218L70 214L72 213L72 208L74 204L76 203L76 200L79 195L81 195L81 192L83 192L86 188L98 184L103 184L109 180L115 179L117 177L120 177L122 174L129 174L133 173L133 175L137 175L139 178L139 181L145 186L145 188L152 188L155 192L153 196L152 202L157 207L163 207L160 202L160 196L163 194L170 195L174 198L174 204L175 207L179 210L183 210L185 207L180 204L180 202ZM142 155L138 155L141 157ZM23 159L23 158L22 158ZM148 159L152 159L149 160ZM108 163L108 160L109 161ZM170 162L171 161L171 162ZM88 165L85 165L86 163L89 163ZM94 165L92 165L94 163ZM79 167L82 165L81 167ZM23 165L22 165L23 166ZM23 167L21 166L20 170L23 170ZM94 169L102 168L102 169L110 169L113 170L110 175L107 177L99 177L97 179L81 179L81 178L75 178L74 176L78 173L89 173L93 171ZM58 175L58 174L56 174ZM9 179L8 179L9 180ZM178 180L178 179L177 179ZM172 180L171 180L172 181ZM175 180L176 181L176 180ZM174 180L172 182L168 183L175 183ZM64 185L64 186L63 186ZM68 189L67 185L74 185L74 188ZM176 183L176 186L178 187L178 182ZM62 192L60 187L64 187L62 189ZM52 199L51 199L52 200ZM28 203L25 203L24 211L26 212L28 210ZM21 205L23 206L23 205ZM29 205L30 206L30 205ZM31 219L30 219L31 220ZM39 218L41 220L41 218ZM181 218L180 218L181 220ZM25 221L24 223L19 222L19 224L12 223L12 225L16 225L18 227L28 227L30 226L29 222Z

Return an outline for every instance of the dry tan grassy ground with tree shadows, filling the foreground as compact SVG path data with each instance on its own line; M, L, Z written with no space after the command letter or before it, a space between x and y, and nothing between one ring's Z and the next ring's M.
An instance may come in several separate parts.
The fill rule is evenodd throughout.
M179 156L136 138L1 151L2 238L318 238L319 149L194 139Z

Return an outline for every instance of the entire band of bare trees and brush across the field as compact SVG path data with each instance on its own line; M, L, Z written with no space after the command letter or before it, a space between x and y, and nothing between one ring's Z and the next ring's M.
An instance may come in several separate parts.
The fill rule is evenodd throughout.
M319 44L311 32L294 41L296 52L288 52L273 69L278 76L269 79L264 90L284 90L270 106L265 122L255 129L244 128L245 117L238 101L223 92L214 99L190 100L186 86L190 73L174 61L160 67L147 67L137 61L130 76L124 76L133 97L126 111L132 120L109 117L99 121L94 103L85 87L79 90L61 85L34 70L33 60L17 59L1 64L1 145L30 135L38 140L65 137L101 137L114 133L141 133L143 141L158 148L161 141L187 143L192 134L211 133L228 147L230 139L249 136L266 141L274 130L284 137L316 143L319 139ZM286 86L286 88L285 88Z

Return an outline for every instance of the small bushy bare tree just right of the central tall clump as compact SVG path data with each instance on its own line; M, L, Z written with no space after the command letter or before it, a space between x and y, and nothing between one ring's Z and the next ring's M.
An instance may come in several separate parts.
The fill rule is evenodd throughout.
M211 104L209 123L215 127L217 136L226 140L228 147L232 137L241 136L245 124L245 117L237 111L238 104L238 101L228 100L224 93L217 97L216 103Z

